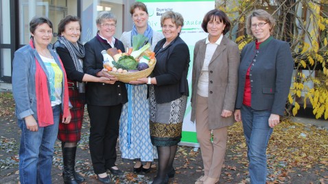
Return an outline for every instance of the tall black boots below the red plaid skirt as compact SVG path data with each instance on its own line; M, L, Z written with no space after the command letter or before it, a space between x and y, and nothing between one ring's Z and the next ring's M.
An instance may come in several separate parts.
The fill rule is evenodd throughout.
M78 184L85 179L75 172L75 153L76 147L65 148L62 146L62 158L64 160L64 172L62 177L65 184Z

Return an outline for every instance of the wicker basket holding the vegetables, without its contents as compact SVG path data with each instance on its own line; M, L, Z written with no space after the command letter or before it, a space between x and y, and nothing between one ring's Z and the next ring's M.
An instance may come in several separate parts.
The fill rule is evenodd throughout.
M110 75L114 75L115 77L117 77L119 81L122 81L124 83L129 83L130 81L137 81L137 79L148 77L150 73L152 73L152 70L154 70L155 64L156 64L156 60L155 63L149 68L134 73L113 73L113 72L108 72L108 73Z

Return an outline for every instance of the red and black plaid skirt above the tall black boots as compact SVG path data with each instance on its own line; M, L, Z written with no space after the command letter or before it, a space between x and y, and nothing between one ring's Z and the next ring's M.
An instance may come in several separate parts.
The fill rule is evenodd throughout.
M84 115L85 94L78 92L75 86L76 82L68 81L69 84L69 101L73 106L71 111L71 122L62 123L60 116L58 140L62 142L79 142L81 139L81 128Z

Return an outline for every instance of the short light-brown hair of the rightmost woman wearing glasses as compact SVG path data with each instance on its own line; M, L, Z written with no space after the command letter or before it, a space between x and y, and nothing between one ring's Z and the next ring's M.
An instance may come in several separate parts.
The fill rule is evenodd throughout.
M246 33L253 36L252 33L252 18L257 17L261 21L266 21L270 25L270 35L274 33L274 25L276 25L276 20L269 14L266 10L253 10L246 18Z

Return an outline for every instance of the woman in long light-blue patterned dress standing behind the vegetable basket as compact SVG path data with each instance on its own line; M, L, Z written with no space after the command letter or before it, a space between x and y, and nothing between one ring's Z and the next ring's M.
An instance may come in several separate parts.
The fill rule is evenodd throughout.
M134 25L131 31L124 32L121 36L120 40L124 48L133 46L133 36L143 34L148 37L153 51L157 42L164 36L161 32L154 31L148 24L147 7L138 1L132 3L130 14ZM133 172L149 172L152 161L157 159L157 152L150 141L148 87L146 84L137 86L127 84L127 88L128 103L123 105L119 127L121 157L124 160L136 161ZM141 161L145 163L144 166Z

